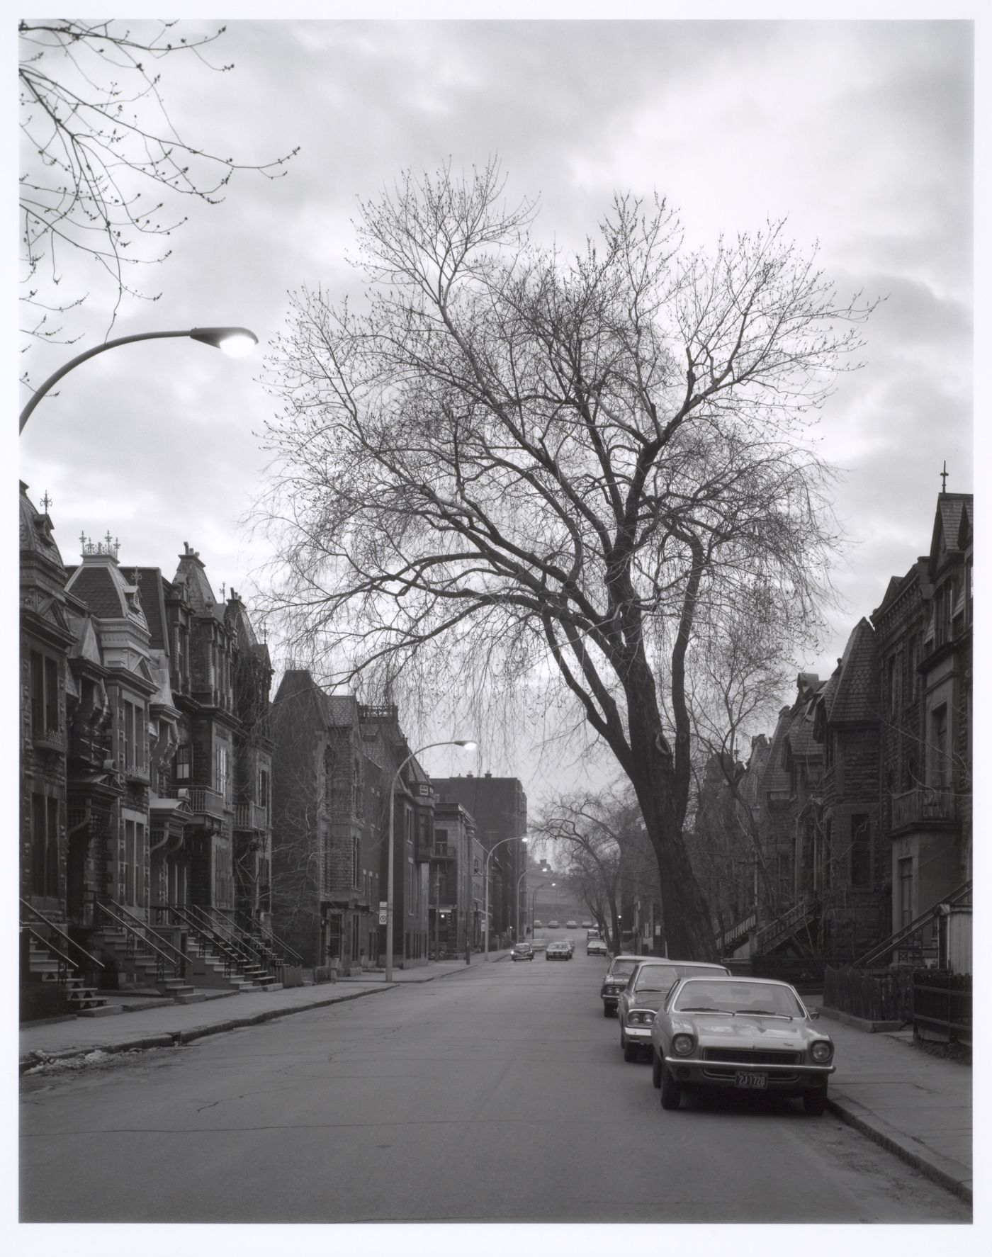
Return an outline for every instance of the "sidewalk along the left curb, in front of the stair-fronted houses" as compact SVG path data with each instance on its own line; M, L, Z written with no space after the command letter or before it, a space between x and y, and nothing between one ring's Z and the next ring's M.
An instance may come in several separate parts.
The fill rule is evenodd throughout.
M490 952L489 963L509 952ZM484 964L473 955L470 968ZM282 991L205 992L197 1003L177 1004L171 999L150 1001L121 994L124 1012L111 1017L74 1017L58 1022L39 1022L19 1031L20 1068L87 1052L126 1052L145 1047L175 1047L207 1035L221 1035L244 1026L258 1026L275 1017L324 1008L346 999L375 996L409 982L433 982L453 973L465 973L464 960L436 960L411 969L394 969L386 983L385 970L372 970L353 978L312 987L284 987ZM204 993L204 992L201 992ZM114 992L114 997L117 997Z

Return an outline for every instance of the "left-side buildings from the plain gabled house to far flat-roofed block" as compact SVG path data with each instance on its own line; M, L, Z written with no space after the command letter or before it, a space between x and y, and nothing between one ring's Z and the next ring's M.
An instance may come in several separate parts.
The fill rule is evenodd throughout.
M426 964L484 944L487 852L526 832L515 778L459 791L431 782L400 728L394 705L327 694L302 669L287 671L270 715L274 745L273 914L275 931L308 965L350 974L386 959L381 910L389 877L394 789L395 967ZM480 837L473 803L487 826ZM488 843L488 845L487 845ZM509 928L519 842L490 861L490 928ZM505 875L505 876L504 876ZM512 882L515 886L515 882Z

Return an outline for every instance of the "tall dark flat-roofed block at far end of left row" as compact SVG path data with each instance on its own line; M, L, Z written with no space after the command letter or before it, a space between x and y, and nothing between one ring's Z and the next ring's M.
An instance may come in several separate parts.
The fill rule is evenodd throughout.
M441 804L459 803L475 821L488 874L490 945L503 936L521 936L527 923L527 794L517 777L492 773L434 781ZM485 886L483 900L485 901Z

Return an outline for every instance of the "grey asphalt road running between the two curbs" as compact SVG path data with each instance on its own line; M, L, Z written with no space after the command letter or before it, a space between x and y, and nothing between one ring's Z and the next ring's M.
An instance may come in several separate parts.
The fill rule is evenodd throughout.
M605 962L451 977L25 1080L23 1222L967 1222L829 1114L665 1112ZM744 1102L744 1101L748 1102Z

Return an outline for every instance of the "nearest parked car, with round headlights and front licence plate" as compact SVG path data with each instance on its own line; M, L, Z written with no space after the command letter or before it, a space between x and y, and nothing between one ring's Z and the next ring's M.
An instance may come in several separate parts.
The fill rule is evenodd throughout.
M661 1107L678 1109L686 1087L801 1096L826 1107L834 1043L798 993L771 978L686 975L650 1031L651 1076Z

